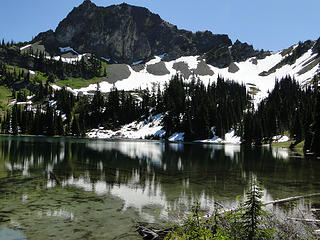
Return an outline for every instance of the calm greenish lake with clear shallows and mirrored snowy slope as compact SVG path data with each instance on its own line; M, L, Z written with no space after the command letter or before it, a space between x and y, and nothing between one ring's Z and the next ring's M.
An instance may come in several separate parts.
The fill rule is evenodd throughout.
M287 149L158 141L0 137L0 239L140 239L194 200L237 204L320 192L320 164Z

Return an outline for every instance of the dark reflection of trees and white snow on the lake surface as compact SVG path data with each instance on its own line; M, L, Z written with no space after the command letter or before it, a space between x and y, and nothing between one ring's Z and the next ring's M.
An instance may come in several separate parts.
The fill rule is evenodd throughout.
M135 207L145 215L149 205L168 215L166 209L187 207L195 199L207 208L214 201L230 206L243 195L252 175L264 185L267 200L314 192L318 165L290 158L284 149L237 145L0 138L0 179L43 175L46 188L61 185L111 194L124 201L123 209Z

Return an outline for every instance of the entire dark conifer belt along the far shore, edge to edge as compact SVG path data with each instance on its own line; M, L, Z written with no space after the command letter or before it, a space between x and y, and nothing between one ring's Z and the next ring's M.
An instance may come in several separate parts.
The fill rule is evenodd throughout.
M22 73L13 73L13 76L28 79ZM211 138L211 127L215 126L217 136L224 136L234 128L248 145L271 143L273 136L288 134L296 143L305 140L306 152L318 152L318 81L319 77L315 77L312 85L302 87L290 76L277 80L257 109L252 106L244 85L221 77L205 86L195 77L186 82L176 75L164 89L155 85L151 90L134 94L115 87L109 93L101 93L98 86L93 96L74 96L64 88L54 92L48 82L40 81L34 91L39 106L8 109L1 129L3 133L14 134L84 136L93 128L117 129L161 113L167 138L175 132L184 132L186 141ZM16 95L19 99L26 97L24 92L18 91ZM48 101L54 104L45 104ZM21 127L25 124L21 121L41 122L43 129ZM49 131L49 128L55 130Z

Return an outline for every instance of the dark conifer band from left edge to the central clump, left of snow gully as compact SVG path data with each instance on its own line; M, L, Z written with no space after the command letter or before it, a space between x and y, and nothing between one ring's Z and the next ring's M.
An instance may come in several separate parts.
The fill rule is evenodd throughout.
M157 85L137 94L116 88L103 94L99 87L93 96L74 96L64 88L52 93L48 84L39 84L34 96L38 106L8 109L2 119L2 132L84 136L92 128L116 129L151 114L162 113L167 137L174 132L185 132L186 140L195 140L212 137L211 126L217 126L217 134L238 127L249 104L244 85L221 77L216 83L205 86L199 79L185 83L181 76L176 75L164 90ZM19 91L17 95L24 96ZM27 122L40 121L43 128L36 131L31 126L21 127L25 119ZM49 128L55 130L49 131Z

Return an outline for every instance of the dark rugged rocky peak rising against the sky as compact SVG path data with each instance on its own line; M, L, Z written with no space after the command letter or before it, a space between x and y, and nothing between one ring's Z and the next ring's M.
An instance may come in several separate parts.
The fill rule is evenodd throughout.
M41 41L51 54L57 53L58 47L70 46L80 53L90 52L128 64L164 53L166 60L219 49L226 54L232 46L227 35L179 30L146 8L128 4L98 7L90 0L74 8L55 32L41 33L36 41ZM211 63L228 66L233 56L227 55L221 59L211 56Z

